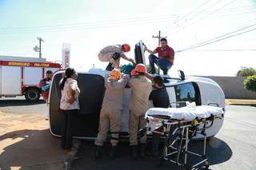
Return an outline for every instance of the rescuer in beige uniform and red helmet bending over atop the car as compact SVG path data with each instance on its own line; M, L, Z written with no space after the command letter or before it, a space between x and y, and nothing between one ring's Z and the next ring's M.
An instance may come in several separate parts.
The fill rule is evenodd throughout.
M126 57L126 52L130 51L130 45L109 45L106 46L98 53L98 59L103 62L109 62L106 66L106 70L111 71L112 69L120 69L120 58L122 57L126 61L130 61L135 65L133 59Z

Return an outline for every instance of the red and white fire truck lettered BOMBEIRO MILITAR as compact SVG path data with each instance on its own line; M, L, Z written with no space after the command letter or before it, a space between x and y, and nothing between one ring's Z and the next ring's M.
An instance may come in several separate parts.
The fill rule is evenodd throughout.
M0 56L0 97L25 95L26 101L38 101L41 89L39 81L46 71L61 69L58 63L45 58Z

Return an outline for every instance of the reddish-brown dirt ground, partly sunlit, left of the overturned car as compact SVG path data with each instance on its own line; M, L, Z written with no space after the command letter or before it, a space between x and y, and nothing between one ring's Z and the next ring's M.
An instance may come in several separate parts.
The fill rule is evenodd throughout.
M67 152L50 135L46 115L0 111L0 169L63 169Z

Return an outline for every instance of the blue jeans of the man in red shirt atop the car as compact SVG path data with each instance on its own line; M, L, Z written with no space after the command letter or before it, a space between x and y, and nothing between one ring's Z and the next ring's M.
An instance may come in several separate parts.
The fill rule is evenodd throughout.
M166 58L158 58L156 57L154 54L150 54L149 56L149 60L150 60L150 68L151 68L151 72L155 73L155 69L154 69L154 64L158 65L158 67L160 69L162 69L163 74L167 74L168 70L171 68L171 66L173 65L169 60L167 60Z

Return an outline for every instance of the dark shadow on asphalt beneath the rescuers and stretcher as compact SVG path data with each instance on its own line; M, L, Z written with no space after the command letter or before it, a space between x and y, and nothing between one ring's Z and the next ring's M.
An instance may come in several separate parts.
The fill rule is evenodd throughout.
M201 152L203 142L200 140L192 141L193 151ZM103 148L102 159L94 160L94 142L84 141L82 145L82 151L79 154L79 159L74 164L74 169L97 169L97 170L136 170L136 169L179 169L175 164L165 161L162 166L159 166L159 160L152 157L147 157L144 160L133 160L130 156L131 149L127 142L122 142L118 146L118 158L110 160L109 146ZM232 156L232 150L226 142L213 137L207 144L207 156L210 158L210 164L221 164L227 160L230 160ZM191 162L196 160L194 157L190 157Z

